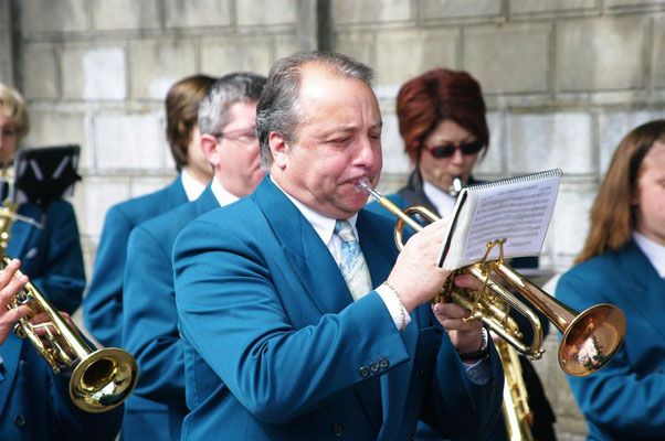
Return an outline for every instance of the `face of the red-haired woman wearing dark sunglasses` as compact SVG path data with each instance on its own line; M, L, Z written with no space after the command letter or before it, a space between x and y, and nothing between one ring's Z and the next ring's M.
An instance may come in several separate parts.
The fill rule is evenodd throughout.
M425 138L421 148L419 168L423 180L447 192L455 176L468 182L471 171L478 159L478 153L464 154L460 146L476 141L476 138L464 127L450 119L444 119ZM456 147L447 158L436 158L431 149L442 146ZM471 146L471 144L469 144Z

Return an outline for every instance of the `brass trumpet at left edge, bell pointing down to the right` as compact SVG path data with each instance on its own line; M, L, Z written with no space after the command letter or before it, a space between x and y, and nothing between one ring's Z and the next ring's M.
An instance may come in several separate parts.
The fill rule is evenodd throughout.
M11 179L7 181L12 185ZM19 218L17 208L18 204L9 198L0 207L2 269L12 260L4 252L11 225ZM21 277L22 272L17 270L15 276ZM55 374L73 367L70 396L80 409L105 412L129 397L138 379L138 365L129 353L117 347L93 351L31 281L25 283L8 308L20 305L27 305L30 312L19 319L14 333L21 338L28 337ZM40 312L44 312L49 321L30 323L30 319ZM40 333L44 336L40 336Z

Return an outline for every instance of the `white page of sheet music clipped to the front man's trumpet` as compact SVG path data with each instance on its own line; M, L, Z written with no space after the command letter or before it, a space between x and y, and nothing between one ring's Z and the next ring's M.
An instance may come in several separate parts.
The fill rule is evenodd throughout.
M475 212L468 228L461 266L479 261L487 243L506 238L504 257L540 254L549 226L560 176L488 186L476 193ZM498 258L494 248L489 260Z

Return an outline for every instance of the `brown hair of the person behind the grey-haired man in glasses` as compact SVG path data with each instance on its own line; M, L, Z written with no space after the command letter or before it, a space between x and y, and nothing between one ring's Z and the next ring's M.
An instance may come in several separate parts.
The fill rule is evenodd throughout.
M213 83L211 76L193 75L172 85L167 94L167 139L178 171L187 165L187 148L197 125L199 103Z

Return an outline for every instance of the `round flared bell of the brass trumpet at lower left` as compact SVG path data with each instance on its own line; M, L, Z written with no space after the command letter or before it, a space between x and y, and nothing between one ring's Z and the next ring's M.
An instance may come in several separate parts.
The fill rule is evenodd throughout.
M136 359L117 347L98 349L74 368L70 397L82 410L106 412L122 405L138 379Z

